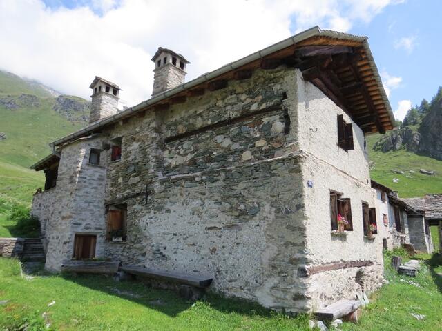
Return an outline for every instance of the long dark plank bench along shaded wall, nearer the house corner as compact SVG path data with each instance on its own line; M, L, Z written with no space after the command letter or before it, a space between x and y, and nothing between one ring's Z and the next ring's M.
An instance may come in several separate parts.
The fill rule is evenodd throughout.
M200 276L198 274L183 274L182 272L166 272L163 270L148 269L137 267L135 265L124 265L121 268L124 272L135 274L136 276L157 279L159 281L169 281L172 283L180 283L191 285L195 288L208 287L212 279L210 277Z

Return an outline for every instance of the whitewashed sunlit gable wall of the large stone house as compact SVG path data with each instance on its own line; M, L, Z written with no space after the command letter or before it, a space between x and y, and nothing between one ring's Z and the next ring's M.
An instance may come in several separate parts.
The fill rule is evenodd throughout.
M302 163L306 212L307 258L309 265L364 261L371 265L319 272L308 277L310 308L318 308L338 299L353 299L361 285L370 292L383 283L382 237L364 237L362 202L376 207L376 192L371 188L364 135L353 124L354 150L338 147L337 116L352 120L323 92L298 74L299 146L305 153ZM311 183L311 185L308 185ZM309 187L311 186L311 187ZM350 198L353 230L345 235L332 234L330 190ZM362 272L362 273L361 273Z

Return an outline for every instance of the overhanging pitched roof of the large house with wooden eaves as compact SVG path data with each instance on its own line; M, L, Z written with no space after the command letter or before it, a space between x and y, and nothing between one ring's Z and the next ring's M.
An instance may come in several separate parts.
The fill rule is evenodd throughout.
M309 46L311 47L309 48ZM156 94L155 97L151 99L143 101L131 108L127 108L122 112L118 112L111 117L97 121L64 138L53 141L50 145L52 147L60 146L64 143L68 143L72 139L77 139L78 137L101 130L103 127L116 123L121 119L132 117L137 112L151 110L154 106L167 106L171 97L186 97L191 95L192 92L195 92L195 90L210 90L212 83L219 80L227 81L229 79L235 79L236 72L240 70L263 68L265 61L300 68L300 66L306 66L308 63L316 63L317 66L318 60L324 62L336 55L336 53L332 52L328 57L325 57L324 54L320 54L321 51L319 48L321 47L323 48L322 52L324 49L327 50L327 48L347 49L347 54L338 54L339 57L337 61L334 62L334 67L332 68L335 70L333 77L332 79L329 78L328 81L332 83L332 85L332 81L336 81L336 77L339 81L342 81L342 86L337 89L335 88L335 92L345 99L345 103L348 104L346 110L347 112L352 112L349 115L354 118L358 126L361 126L365 133L385 132L385 130L392 129L394 127L394 116L387 95L385 94L381 77L374 63L372 52L369 49L367 37L321 30L318 26L315 26L314 28L295 34L292 37L250 54L238 61L203 74L176 88ZM316 50L314 48L316 48ZM304 54L305 57L296 57L296 50L301 50L301 53ZM352 57L353 55L354 57ZM343 63L347 63L348 66L343 67ZM317 69L318 67L315 68ZM310 74L311 76L312 74L312 72L306 71L308 71L308 66L307 70L303 71L305 79L307 79L307 75ZM313 72L313 74L315 74L315 72ZM315 84L317 80L318 79L311 79L310 81ZM320 86L320 82L315 85ZM325 86L325 89L327 90L327 86ZM339 102L336 98L334 101ZM338 106L345 108L342 104Z

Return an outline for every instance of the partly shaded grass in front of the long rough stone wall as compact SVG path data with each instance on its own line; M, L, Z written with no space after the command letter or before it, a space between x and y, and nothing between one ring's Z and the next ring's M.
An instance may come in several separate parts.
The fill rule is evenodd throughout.
M215 295L193 303L175 292L102 276L43 274L26 280L17 261L1 258L0 299L9 300L0 305L0 329L47 312L56 330L309 330L305 315L290 318Z

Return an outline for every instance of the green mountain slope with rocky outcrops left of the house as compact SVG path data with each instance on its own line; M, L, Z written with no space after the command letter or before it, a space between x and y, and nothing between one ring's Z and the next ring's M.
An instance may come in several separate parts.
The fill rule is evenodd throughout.
M0 198L30 203L44 175L28 168L50 153L48 143L86 126L89 107L84 99L0 71Z

